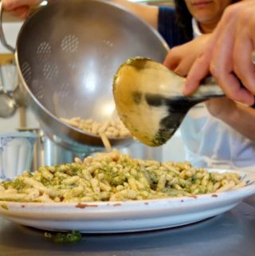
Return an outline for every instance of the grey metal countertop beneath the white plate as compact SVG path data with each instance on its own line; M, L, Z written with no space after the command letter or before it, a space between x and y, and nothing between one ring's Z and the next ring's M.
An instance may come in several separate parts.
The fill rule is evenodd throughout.
M136 234L84 234L80 242L54 243L44 231L0 218L0 256L253 256L255 208L232 211L200 223Z

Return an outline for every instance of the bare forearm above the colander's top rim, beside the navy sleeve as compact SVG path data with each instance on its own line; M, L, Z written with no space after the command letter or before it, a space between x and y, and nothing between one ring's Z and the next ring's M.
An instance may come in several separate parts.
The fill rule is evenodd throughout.
M127 0L112 0L120 4L121 6L126 7L133 14L142 18L145 22L149 23L155 29L158 29L158 16L159 16L159 7L158 6L148 6L146 4L140 4L136 2L130 2Z

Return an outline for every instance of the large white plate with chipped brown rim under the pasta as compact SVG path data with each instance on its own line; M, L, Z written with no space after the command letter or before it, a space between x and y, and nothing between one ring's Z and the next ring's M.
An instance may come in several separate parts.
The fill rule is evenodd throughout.
M0 202L0 215L14 223L42 230L79 230L84 233L121 233L182 226L229 211L255 193L255 174L235 172L245 179L246 186L233 191L128 202Z

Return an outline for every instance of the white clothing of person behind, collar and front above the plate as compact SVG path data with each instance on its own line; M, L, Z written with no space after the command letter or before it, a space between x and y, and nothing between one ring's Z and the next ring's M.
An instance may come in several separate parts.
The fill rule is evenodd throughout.
M202 34L194 19L192 26L194 37ZM190 109L180 130L186 160L194 167L255 171L255 142L211 116L205 104Z

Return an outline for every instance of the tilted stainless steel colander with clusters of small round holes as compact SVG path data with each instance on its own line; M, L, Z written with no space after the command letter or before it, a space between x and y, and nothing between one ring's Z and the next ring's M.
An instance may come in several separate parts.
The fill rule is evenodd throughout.
M2 43L11 49L4 39ZM116 115L112 80L128 57L163 61L162 37L128 10L97 0L54 1L26 20L15 51L21 91L41 128L77 152L102 147L100 137L59 117L109 120ZM23 100L24 101L24 100ZM112 145L131 139L110 138Z

